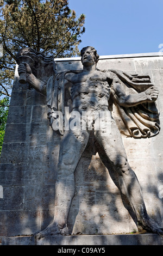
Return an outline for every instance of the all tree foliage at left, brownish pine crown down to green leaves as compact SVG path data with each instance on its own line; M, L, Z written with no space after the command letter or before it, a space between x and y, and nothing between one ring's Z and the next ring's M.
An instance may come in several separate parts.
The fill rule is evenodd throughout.
M23 47L31 47L54 58L79 55L80 36L85 32L85 16L77 19L68 0L0 0L0 95L4 102L11 96L16 54ZM1 135L3 142L7 107L0 107Z

